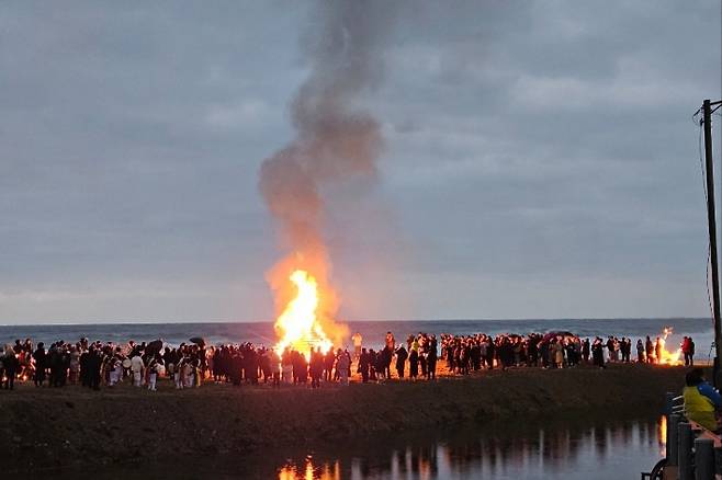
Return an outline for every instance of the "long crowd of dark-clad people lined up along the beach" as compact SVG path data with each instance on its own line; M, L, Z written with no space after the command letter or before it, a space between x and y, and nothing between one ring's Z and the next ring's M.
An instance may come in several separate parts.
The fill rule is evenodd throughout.
M566 368L589 364L600 368L608 362L632 362L632 340L599 336L580 339L569 332L528 335L484 333L471 335L419 332L397 342L387 332L380 348L366 348L362 336L352 336L353 353L345 348L320 347L300 352L286 347L275 352L252 343L206 346L202 339L173 347L162 341L114 344L58 341L47 350L43 342L16 340L0 351L0 378L5 389L15 380L32 381L37 387L81 385L91 389L112 388L121 382L155 391L165 378L176 389L194 388L203 382L309 385L348 385L356 373L361 382L380 382L391 378L428 379L437 376L437 364L445 363L444 375L469 375L482 369L510 367ZM650 336L636 342L636 362L661 363L664 339ZM680 345L686 365L693 365L695 343L685 336Z

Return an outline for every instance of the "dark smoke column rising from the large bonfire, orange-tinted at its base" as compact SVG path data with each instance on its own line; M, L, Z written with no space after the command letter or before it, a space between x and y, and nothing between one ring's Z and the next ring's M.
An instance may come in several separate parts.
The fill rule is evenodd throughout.
M291 296L290 271L304 268L324 292L321 321L336 312L324 221L332 198L325 187L375 175L381 127L360 103L381 80L392 10L391 1L319 0L302 38L309 75L291 104L296 136L260 171L261 194L289 250L268 275L277 308Z

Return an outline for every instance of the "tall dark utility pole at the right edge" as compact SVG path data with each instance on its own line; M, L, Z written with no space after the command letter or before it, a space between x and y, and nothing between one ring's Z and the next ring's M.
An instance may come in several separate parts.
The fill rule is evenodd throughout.
M720 105L722 102L714 102ZM718 106L719 108L719 106ZM717 108L715 108L717 110ZM712 102L702 104L702 124L704 126L704 164L707 171L707 226L710 235L710 263L712 270L712 312L714 315L714 368L712 382L715 388L720 382L720 358L722 358L722 323L720 322L720 274L717 260L717 213L714 212L714 160L712 158Z

